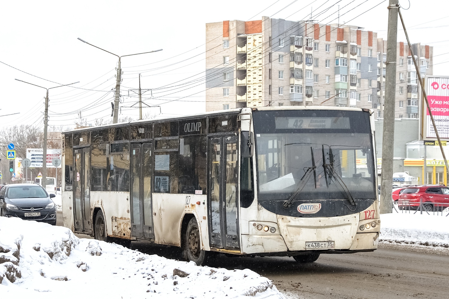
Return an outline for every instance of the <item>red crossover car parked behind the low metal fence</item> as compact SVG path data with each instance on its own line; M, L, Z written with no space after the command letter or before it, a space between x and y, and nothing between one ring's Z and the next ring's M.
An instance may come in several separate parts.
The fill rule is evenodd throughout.
M444 185L409 186L399 195L400 209L417 209L423 203L423 210L437 211L449 207L449 188Z

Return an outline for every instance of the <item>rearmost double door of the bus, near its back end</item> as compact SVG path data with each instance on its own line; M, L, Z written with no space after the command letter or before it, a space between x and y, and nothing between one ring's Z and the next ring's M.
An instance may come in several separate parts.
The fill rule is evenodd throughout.
M74 149L75 154L75 230L92 232L90 211L90 147Z

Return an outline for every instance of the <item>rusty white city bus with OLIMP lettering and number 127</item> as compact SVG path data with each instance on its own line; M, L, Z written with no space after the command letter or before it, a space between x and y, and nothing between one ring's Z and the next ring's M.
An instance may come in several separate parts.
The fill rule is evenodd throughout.
M64 225L99 240L293 256L374 251L370 109L240 108L63 132ZM358 167L360 165L364 167Z

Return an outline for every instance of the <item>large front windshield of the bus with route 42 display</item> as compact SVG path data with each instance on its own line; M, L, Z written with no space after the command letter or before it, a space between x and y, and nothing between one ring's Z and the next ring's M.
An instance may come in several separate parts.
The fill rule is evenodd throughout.
M259 200L374 198L368 113L254 113ZM258 126L259 125L259 126Z

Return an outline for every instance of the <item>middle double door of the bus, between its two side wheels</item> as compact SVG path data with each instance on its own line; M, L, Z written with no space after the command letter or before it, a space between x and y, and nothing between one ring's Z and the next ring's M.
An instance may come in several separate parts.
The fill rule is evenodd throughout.
M131 235L154 239L151 143L131 144Z

